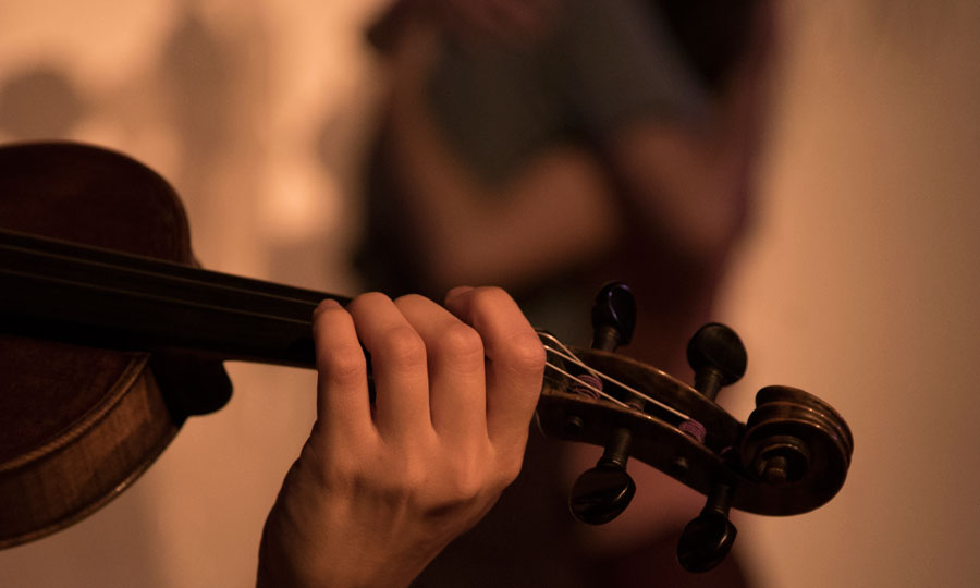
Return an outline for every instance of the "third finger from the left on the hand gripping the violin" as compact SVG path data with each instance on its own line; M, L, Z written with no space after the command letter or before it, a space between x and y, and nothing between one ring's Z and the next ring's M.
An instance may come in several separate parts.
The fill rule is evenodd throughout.
M451 443L486 442L483 344L479 333L422 296L395 305L426 345L429 411L436 432Z

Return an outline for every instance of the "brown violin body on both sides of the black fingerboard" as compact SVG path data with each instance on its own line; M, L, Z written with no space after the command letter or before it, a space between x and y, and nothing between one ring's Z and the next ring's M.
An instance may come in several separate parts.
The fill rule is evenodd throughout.
M167 182L102 149L0 148L0 229L194 262ZM8 313L14 295L3 293ZM19 336L12 317L0 320L0 548L66 527L127 488L183 422L188 411L172 399L217 407L231 393L220 364Z

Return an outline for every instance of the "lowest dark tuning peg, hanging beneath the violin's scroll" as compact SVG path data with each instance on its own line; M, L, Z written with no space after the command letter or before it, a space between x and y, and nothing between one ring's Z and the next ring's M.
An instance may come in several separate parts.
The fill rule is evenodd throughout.
M708 572L732 550L738 529L728 520L731 503L732 488L715 485L701 514L684 527L677 543L677 561L684 569Z

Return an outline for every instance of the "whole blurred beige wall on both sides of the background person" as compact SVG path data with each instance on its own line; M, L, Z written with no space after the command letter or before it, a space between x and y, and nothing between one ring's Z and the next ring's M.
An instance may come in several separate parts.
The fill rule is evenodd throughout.
M357 29L380 3L2 0L0 139L132 154L177 186L208 267L354 292L351 162L378 91ZM739 540L774 587L975 586L980 4L809 4L784 15L756 228L720 313L751 363L723 402L744 417L761 385L808 389L856 453L830 505L744 518ZM41 70L61 86L11 115ZM232 375L231 406L121 499L0 552L0 586L249 585L313 375Z

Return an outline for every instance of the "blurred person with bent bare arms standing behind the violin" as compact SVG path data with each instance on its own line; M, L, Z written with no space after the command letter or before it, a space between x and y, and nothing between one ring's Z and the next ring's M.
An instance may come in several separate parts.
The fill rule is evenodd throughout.
M772 20L763 0L396 2L369 32L391 90L367 170L368 285L500 284L580 344L598 287L623 281L638 306L623 351L684 378L750 208ZM651 468L632 468L617 520L572 522L564 494L596 457L532 436L517 483L418 586L750 584L737 550L681 571L703 498Z

